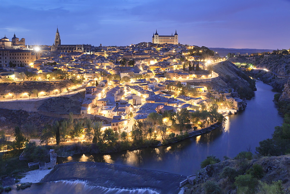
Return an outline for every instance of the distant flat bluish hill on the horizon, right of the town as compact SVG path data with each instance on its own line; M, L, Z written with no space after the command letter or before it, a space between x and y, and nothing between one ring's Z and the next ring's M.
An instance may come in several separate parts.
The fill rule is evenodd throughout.
M255 49L255 48L209 48L212 51L218 52L221 57L226 56L228 53L240 53L240 54L246 54L249 55L251 53L262 53L262 52L272 52L276 49Z

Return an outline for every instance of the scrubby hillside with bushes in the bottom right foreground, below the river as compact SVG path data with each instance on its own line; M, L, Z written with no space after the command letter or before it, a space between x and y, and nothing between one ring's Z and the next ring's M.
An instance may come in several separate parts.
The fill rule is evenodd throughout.
M251 174L251 172L253 172L251 171L253 170L253 165L258 165L262 168L259 172ZM247 186L253 184L252 193L258 193L258 191L260 191L260 193L269 193L269 191L263 191L263 187L259 184L258 179L267 184L272 184L273 181L281 180L282 189L285 193L288 193L290 187L290 175L288 173L289 165L290 155L262 157L252 160L247 160L245 158L228 159L220 163L208 165L206 168L200 170L195 179L196 184L194 186L188 184L187 187L189 188L186 189L184 193L206 193L204 184L206 181L213 181L216 183L218 187L220 187L220 193L241 193L241 190L245 188L242 188L242 186L236 186L237 183L234 183L235 177L246 173L250 173L253 177L258 177L252 178L251 182L247 182L246 179L243 180L244 183L247 182ZM231 173L223 173L223 171L226 172L226 170L224 170L225 167L231 167Z

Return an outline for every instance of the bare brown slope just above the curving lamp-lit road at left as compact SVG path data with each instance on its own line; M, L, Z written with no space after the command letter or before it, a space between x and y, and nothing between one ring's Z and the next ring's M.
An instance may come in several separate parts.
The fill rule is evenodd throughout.
M52 91L58 88L73 87L75 84L71 80L61 80L54 82L0 82L0 95L8 93L25 93L37 89L38 91Z

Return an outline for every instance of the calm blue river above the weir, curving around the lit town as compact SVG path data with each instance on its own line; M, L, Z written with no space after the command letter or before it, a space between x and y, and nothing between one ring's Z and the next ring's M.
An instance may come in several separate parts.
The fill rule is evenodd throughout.
M224 127L207 134L192 137L175 144L123 151L110 154L76 154L71 157L58 157L58 164L75 161L95 161L110 164L158 170L179 175L193 175L200 169L206 156L235 157L239 152L259 146L259 141L270 138L274 127L282 124L273 96L272 86L256 82L255 97L247 100L245 110L227 116Z

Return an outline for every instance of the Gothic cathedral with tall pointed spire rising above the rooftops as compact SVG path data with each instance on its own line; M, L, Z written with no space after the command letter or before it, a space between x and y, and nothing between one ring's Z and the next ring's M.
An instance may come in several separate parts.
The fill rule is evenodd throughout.
M90 52L92 45L90 44L61 44L58 28L55 33L55 42L51 46L51 51L70 53L70 52Z

